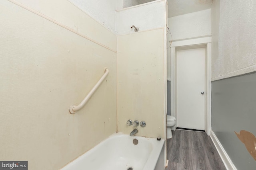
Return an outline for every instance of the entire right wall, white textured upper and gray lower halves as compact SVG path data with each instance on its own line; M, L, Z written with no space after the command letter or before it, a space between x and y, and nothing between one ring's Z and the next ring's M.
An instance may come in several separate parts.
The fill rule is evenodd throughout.
M256 167L234 133L256 134L255 8L254 0L215 0L212 8L212 131L239 170Z

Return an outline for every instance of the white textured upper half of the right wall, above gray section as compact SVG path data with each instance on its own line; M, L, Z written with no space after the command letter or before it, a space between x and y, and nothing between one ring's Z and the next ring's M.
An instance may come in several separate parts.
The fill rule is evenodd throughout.
M216 0L214 3L214 11L220 14L212 14L213 42L218 41L212 47L212 80L255 71L256 1Z

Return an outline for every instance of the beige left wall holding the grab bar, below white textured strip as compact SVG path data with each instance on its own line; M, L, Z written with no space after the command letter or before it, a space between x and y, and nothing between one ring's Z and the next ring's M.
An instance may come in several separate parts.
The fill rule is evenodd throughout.
M116 132L116 35L68 1L23 2L106 46L0 2L0 160L55 170ZM70 114L105 66L110 73L104 82Z

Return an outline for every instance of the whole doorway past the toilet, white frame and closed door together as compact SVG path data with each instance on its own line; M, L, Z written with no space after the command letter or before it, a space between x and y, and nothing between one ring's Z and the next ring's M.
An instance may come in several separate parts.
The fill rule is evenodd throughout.
M183 80L179 79L182 77L178 77L179 75L177 75L177 73L179 74L179 72L181 70L179 70L179 68L177 69L178 65L180 64L180 62L182 62L182 60L186 60L186 57L181 57L180 60L177 60L177 53L178 55L183 55L184 53L191 53L193 51L197 51L196 53L204 53L204 59L194 59L197 60L198 63L192 64L190 62L188 62L187 64L190 64L191 67L196 66L196 64L200 64L201 66L203 65L204 70L197 70L198 72L203 73L201 75L201 79L204 79L204 83L202 83L202 86L198 87L198 89L194 89L194 91L198 91L198 92L194 92L195 94L197 94L198 96L191 96L191 94L188 96L188 94L190 92L192 92L192 90L190 89L189 84L191 84L190 82L188 83L188 79L185 79L184 82L182 82ZM189 55L188 55L189 56ZM197 55L196 55L197 56ZM200 58L200 57L199 57ZM192 59L192 58L190 58ZM177 63L178 62L178 63ZM193 62L193 60L192 60ZM184 62L183 62L184 63ZM202 38L197 38L197 39L189 39L189 40L181 40L181 41L176 41L173 42L171 45L171 55L170 55L170 68L171 68L171 115L176 117L176 125L174 126L174 129L176 129L176 127L182 127L183 128L188 128L188 129L198 129L198 130L205 130L207 135L210 135L210 130L211 130L211 37L202 37ZM187 66L182 66L186 70L192 70L194 68L188 68ZM196 66L197 67L197 66ZM184 73L186 76L188 77L193 77L191 72L185 72ZM196 74L194 72L194 74ZM203 76L203 78L202 78ZM178 80L178 81L177 81ZM195 80L195 78L192 78L192 80ZM186 82L187 81L187 82ZM178 84L177 84L178 83ZM184 83L185 85L183 85L183 89L182 87L179 85L179 83ZM177 87L179 86L179 87ZM202 89L202 90L201 90ZM186 91L187 90L187 91ZM203 94L201 94L201 92ZM180 93L185 94L184 96L189 97L191 102L183 102L182 98L180 98L181 96L179 96ZM192 112L196 112L196 109L194 111L190 111L191 107L188 106L194 106L193 102L196 101L201 101L200 103L203 105L199 106L198 108L196 107L196 109L201 111L201 114L203 113L203 115L199 115L198 119L200 119L201 124L198 125L198 127L190 127L190 122L196 122L194 124L197 124L197 119L196 121L192 120L190 117L192 116ZM181 105L180 105L181 104ZM183 104L183 107L182 107ZM180 106L179 106L180 105ZM182 110L184 109L184 110ZM184 113L186 113L185 115L178 115L179 111L183 111ZM185 123L182 123L182 119L189 117L188 119L186 119ZM182 124L181 124L182 123ZM188 125L188 126L187 126Z

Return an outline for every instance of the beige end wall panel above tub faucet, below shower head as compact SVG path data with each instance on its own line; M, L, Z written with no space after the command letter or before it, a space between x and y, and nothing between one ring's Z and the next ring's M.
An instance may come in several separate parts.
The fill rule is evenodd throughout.
M145 121L138 134L164 138L165 45L164 29L117 36L118 131L129 134L126 121Z

